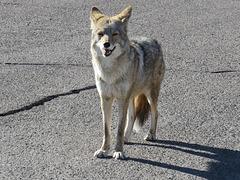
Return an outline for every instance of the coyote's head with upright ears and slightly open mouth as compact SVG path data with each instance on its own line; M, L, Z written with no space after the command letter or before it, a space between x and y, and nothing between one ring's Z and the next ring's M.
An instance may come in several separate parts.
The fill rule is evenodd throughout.
M92 7L91 30L92 48L98 56L117 58L126 48L129 48L127 24L132 8L129 6L120 14L108 17Z

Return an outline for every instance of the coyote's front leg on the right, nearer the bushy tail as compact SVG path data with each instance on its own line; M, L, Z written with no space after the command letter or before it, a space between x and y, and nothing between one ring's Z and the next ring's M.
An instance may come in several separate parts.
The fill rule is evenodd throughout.
M118 99L119 122L118 122L117 142L115 146L115 152L113 154L113 158L115 159L126 158L123 152L123 144L124 144L124 130L126 126L128 103L129 103L129 99Z

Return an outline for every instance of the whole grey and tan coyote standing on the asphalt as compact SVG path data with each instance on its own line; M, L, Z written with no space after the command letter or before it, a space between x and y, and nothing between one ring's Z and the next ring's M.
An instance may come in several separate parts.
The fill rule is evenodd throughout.
M103 143L94 156L108 156L111 144L112 103L117 100L119 122L113 158L125 159L124 142L132 129L138 130L151 114L145 140L156 139L157 102L165 65L156 40L128 39L127 26L132 8L108 17L91 8L91 54L95 80L101 99Z

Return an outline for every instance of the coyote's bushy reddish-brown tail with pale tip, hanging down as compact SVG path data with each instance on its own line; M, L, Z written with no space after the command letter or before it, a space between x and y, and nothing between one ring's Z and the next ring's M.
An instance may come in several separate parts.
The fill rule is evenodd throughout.
M139 131L144 125L150 112L150 104L148 103L147 97L144 94L140 94L134 100L135 106L135 123L133 129Z

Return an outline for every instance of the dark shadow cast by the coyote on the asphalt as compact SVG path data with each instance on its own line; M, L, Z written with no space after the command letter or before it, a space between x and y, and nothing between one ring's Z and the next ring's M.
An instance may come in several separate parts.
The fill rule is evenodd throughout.
M208 170L202 171L193 168L181 167L161 163L157 161L128 158L128 160L150 164L152 166L158 166L162 168L181 171L187 174L192 174L206 179L240 179L240 151L234 151L229 149L214 148L209 146L202 146L198 144L189 144L177 141L157 140L153 143L129 143L129 145L144 145L154 146L159 148L173 149L182 151L195 156L201 156L211 159L208 163Z

